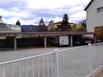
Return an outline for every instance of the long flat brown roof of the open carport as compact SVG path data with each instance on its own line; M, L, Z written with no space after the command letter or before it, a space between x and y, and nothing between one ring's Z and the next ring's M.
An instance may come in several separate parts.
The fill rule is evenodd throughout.
M0 32L0 36L41 36L41 37L52 37L52 36L68 36L68 35L94 35L94 32Z

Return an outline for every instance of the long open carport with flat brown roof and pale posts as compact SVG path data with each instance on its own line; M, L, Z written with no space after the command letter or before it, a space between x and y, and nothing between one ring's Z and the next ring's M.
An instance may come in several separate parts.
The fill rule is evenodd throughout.
M96 42L96 37L94 32L1 32L1 37L9 37L14 40L14 50L17 50L17 38L23 37L43 37L44 38L44 48L47 48L47 37L59 37L59 36L69 36L70 46L73 46L73 36L74 35L93 35L94 42Z

